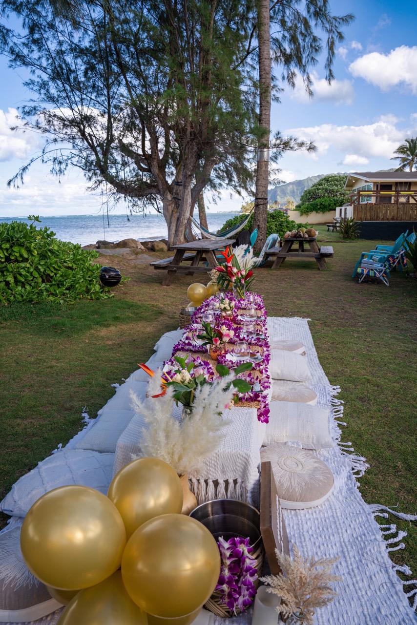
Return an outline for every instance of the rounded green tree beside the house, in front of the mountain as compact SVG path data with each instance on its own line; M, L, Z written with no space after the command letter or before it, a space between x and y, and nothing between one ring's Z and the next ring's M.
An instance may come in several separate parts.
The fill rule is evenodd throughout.
M341 174L323 176L323 178L303 192L297 205L299 212L301 214L308 214L313 211L327 212L333 210L336 206L343 206L343 204L349 201L349 194L344 191L345 182L346 176ZM310 204L318 199L328 202L316 202L311 207Z

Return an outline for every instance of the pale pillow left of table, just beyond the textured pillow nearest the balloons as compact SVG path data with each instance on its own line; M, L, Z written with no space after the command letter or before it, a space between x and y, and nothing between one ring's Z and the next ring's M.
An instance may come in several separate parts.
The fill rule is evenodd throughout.
M96 423L89 427L74 449L92 449L93 451L114 454L116 442L133 418L133 410L112 410L104 407Z

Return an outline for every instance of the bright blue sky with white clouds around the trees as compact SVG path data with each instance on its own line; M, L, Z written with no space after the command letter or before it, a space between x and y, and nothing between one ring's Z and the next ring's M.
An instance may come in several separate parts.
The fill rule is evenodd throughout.
M338 46L329 87L323 59L313 71L314 98L301 81L273 104L273 129L313 139L314 155L287 154L279 164L284 181L334 171L375 171L393 166L393 150L417 134L417 9L415 2L366 0L331 2L334 14L353 12L355 21ZM0 216L85 214L99 210L101 199L86 191L83 176L71 171L62 180L48 167L34 166L20 189L6 181L39 150L38 139L15 134L15 109L31 97L22 77L0 56ZM211 209L238 209L242 200L225 191ZM120 212L124 212L121 207Z

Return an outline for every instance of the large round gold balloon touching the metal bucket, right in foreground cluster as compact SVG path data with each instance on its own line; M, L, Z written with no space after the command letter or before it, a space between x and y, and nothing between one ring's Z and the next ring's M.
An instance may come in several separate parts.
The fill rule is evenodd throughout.
M124 586L148 614L179 617L201 607L220 574L208 529L184 514L163 514L139 527L122 559Z

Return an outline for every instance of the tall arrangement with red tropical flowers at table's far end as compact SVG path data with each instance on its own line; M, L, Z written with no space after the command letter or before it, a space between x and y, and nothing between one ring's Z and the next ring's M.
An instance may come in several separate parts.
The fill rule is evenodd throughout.
M254 279L253 267L257 259L253 255L253 249L247 245L239 245L234 251L231 247L227 247L221 254L225 262L215 267L218 271L219 287L223 289L232 287L236 296L244 297Z

